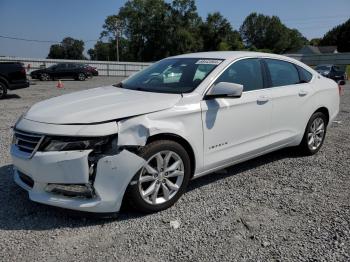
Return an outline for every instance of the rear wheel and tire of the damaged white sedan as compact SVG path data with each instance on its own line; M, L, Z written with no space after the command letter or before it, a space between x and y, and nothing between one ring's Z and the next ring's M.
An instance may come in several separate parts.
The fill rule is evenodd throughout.
M299 150L303 155L316 154L322 147L327 132L327 117L322 112L314 113L307 126ZM312 142L313 141L313 142Z

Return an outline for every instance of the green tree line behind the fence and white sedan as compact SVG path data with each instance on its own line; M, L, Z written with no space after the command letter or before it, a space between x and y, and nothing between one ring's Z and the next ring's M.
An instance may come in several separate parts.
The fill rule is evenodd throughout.
M350 51L350 19L322 39L310 42L277 16L252 13L238 30L219 12L202 19L194 0L129 0L108 16L100 39L88 50L92 60L156 61L201 51L250 50L286 53L306 44L337 45ZM118 42L118 52L117 52ZM84 42L65 38L52 45L48 58L83 59Z

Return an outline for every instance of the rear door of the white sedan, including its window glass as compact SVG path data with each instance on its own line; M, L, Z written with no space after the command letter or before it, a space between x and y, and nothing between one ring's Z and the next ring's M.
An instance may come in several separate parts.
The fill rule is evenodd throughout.
M271 139L277 145L293 142L304 133L313 88L312 74L287 61L264 59L273 103Z

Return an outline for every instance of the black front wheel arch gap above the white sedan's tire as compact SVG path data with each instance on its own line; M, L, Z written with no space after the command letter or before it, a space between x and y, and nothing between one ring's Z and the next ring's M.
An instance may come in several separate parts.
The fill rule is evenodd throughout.
M148 137L146 145L156 140L171 140L183 146L190 157L191 177L194 175L194 172L196 170L196 158L191 144L185 138L172 133L160 133Z

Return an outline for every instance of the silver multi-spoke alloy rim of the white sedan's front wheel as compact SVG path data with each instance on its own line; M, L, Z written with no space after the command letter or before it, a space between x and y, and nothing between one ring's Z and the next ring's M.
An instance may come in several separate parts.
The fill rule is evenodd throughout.
M142 199L151 205L172 199L184 181L184 163L173 151L151 156L141 169L138 188Z

